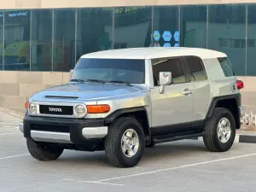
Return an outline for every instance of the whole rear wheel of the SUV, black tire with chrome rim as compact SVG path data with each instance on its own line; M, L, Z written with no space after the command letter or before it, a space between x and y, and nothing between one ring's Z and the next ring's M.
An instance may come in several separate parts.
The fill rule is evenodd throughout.
M236 121L227 108L214 108L211 119L205 126L203 141L213 152L228 151L236 137Z

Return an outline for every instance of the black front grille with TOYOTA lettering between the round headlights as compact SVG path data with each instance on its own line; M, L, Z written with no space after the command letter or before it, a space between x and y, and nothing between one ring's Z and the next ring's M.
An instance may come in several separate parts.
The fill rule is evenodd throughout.
M41 114L73 115L73 106L39 105Z

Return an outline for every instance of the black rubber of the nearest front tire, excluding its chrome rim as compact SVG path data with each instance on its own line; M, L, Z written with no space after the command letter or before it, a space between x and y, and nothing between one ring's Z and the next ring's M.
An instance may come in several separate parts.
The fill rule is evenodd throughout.
M122 137L125 131L133 129L137 132L139 147L137 153L127 157L122 151ZM136 166L142 159L145 148L145 135L142 125L134 118L123 117L116 119L109 126L108 135L105 139L105 153L109 162L117 167Z

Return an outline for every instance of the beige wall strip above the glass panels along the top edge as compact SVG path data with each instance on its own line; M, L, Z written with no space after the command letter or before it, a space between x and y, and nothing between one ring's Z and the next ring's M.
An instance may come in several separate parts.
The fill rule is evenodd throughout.
M0 9L49 9L79 7L118 7L177 4L256 3L256 0L9 0L0 4Z

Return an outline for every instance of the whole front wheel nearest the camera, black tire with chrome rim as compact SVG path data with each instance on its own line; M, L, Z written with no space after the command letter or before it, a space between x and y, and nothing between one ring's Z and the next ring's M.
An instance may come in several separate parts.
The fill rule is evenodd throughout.
M109 126L105 153L113 166L136 166L143 157L144 148L143 127L136 119L119 118Z

